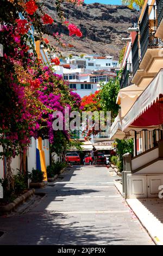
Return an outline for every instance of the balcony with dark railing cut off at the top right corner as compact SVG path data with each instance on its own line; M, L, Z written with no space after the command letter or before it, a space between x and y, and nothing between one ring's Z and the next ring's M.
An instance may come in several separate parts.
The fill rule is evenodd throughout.
M163 40L163 2L162 0L156 0L157 15L158 15L158 29L155 36Z

